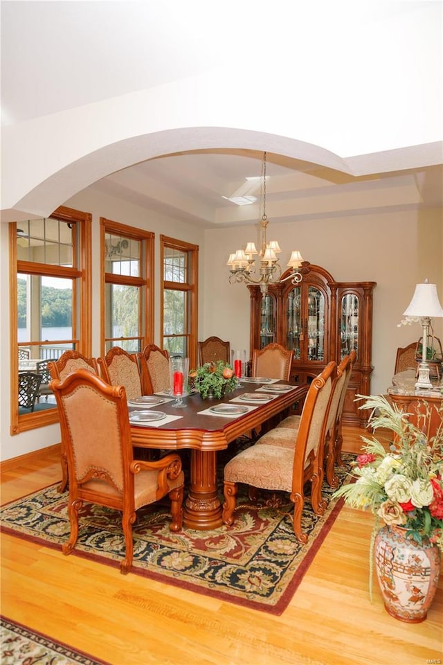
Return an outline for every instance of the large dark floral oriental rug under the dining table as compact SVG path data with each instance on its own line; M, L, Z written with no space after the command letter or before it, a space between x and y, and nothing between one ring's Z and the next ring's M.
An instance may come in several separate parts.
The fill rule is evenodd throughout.
M347 481L351 455L343 455L343 468L336 473L340 484ZM222 490L220 487L221 498ZM169 530L168 504L154 504L137 511L133 527L134 562L129 574L190 589L230 603L282 614L343 504L331 499L333 490L323 485L328 506L321 517L305 501L302 529L307 544L300 545L293 533L293 506L287 498L279 508L267 508L264 501L249 502L244 486L239 487L233 526L213 531ZM284 495L287 497L288 495ZM53 485L18 499L1 509L1 528L19 538L60 548L69 538L68 493ZM91 558L118 569L123 558L124 539L118 511L84 504L80 530L70 556Z

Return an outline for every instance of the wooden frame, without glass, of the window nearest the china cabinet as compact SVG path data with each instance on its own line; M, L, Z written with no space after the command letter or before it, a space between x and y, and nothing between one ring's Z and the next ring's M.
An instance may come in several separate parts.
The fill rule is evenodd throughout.
M168 249L177 249L178 251L187 252L189 256L188 261L188 281L186 282L171 282L165 280L165 247ZM189 330L186 332L188 337L188 355L190 368L197 367L197 333L199 327L198 321L198 296L199 296L199 245L192 245L190 242L184 240L177 240L177 238L170 238L169 236L160 236L160 269L161 269L161 289L160 289L160 339L163 348L164 334L164 292L165 290L185 291L189 294L189 312L187 319L189 322Z

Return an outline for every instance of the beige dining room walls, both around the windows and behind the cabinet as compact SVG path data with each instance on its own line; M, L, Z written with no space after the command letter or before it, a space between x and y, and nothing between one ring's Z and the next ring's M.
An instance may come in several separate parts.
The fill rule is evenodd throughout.
M229 339L232 348L249 343L249 292L241 284L228 284L226 260L230 251L257 239L255 226L236 229L196 229L183 222L150 213L119 199L84 190L66 205L93 215L93 353L99 353L99 218L139 226L156 233L156 322L159 321L159 246L165 235L193 242L200 247L199 339L219 335ZM10 436L9 384L9 285L8 229L0 224L0 382L1 459L9 459L60 441L58 425ZM289 249L300 249L305 260L323 265L337 281L376 281L374 290L374 336L372 392L385 392L398 346L405 346L420 335L419 326L397 328L415 284L427 276L437 283L443 303L443 218L442 211L398 212L330 220L300 220L273 224L268 239L278 239L282 263ZM443 339L443 320L437 328ZM160 341L156 323L155 341Z

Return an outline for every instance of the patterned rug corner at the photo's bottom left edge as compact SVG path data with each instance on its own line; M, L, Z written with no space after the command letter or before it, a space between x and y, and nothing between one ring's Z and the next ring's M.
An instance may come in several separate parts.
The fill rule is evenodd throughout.
M109 665L5 617L0 637L2 665Z

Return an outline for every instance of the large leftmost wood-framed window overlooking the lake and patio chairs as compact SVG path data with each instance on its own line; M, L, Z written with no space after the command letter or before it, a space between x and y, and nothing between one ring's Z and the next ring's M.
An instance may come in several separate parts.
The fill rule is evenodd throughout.
M64 206L10 224L11 433L55 423L46 363L75 348L91 355L91 215ZM81 316L80 316L81 312ZM39 375L30 398L25 374Z

